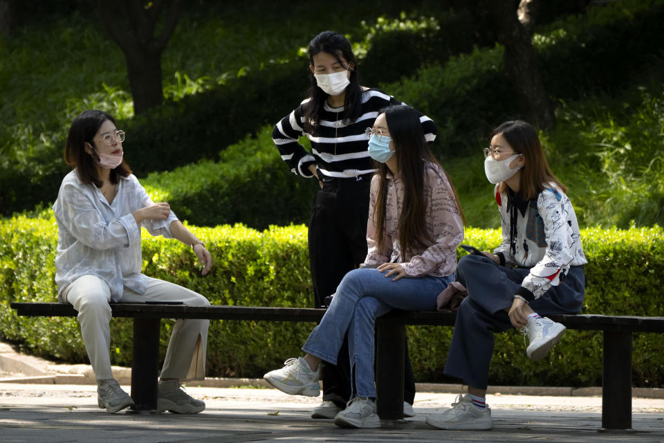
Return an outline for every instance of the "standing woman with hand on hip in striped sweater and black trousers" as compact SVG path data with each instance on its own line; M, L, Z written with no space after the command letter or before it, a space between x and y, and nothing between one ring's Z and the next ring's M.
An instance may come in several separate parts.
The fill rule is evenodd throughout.
M367 255L369 187L375 172L367 152L365 129L374 125L380 109L399 105L380 89L360 85L351 44L343 35L324 31L309 43L311 87L308 98L282 118L273 131L279 154L291 171L320 182L308 229L309 265L314 307L326 305L347 272ZM427 141L436 125L418 114ZM306 135L311 153L299 145ZM312 417L333 418L350 398L347 352L339 368L323 368L323 402ZM406 359L405 414L412 415L415 383Z

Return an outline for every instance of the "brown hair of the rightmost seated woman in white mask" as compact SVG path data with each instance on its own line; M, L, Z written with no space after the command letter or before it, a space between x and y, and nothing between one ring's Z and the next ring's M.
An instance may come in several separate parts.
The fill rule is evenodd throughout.
M537 198L545 188L553 183L562 192L567 192L567 188L558 180L551 168L548 167L540 138L537 131L523 120L512 120L503 123L493 130L491 138L502 134L510 147L517 154L524 156L524 167L521 168L519 177L519 195L524 200ZM499 191L505 192L505 182L499 184Z

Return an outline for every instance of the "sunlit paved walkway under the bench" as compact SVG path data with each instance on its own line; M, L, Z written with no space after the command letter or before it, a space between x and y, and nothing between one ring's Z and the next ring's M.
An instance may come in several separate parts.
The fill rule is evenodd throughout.
M129 370L117 368L115 373L129 392ZM187 386L190 395L207 404L198 415L109 415L97 407L91 377L88 365L53 365L0 343L0 442L664 443L663 390L634 392L634 431L602 433L597 388L494 388L487 398L494 429L472 432L440 431L424 421L450 406L459 385L418 383L415 417L384 421L379 429L343 429L331 420L311 419L320 398L288 396L257 388L262 381L243 379Z

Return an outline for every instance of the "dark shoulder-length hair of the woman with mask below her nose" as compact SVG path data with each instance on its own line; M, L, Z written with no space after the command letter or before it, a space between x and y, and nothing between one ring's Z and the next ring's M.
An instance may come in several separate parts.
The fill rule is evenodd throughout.
M104 111L83 111L71 123L64 147L64 161L76 169L78 178L83 183L94 183L97 188L103 184L97 175L96 162L99 161L99 156L95 152L93 154L85 152L85 143L95 145L93 138L106 120L111 120L113 125L116 124L116 120ZM120 177L127 177L129 174L131 168L122 159L122 163L111 170L111 183L118 183Z

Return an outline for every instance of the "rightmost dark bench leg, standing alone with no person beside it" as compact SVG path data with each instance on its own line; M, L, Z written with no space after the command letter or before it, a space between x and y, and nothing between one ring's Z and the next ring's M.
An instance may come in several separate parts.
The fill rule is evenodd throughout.
M631 429L631 332L604 332L602 428Z

